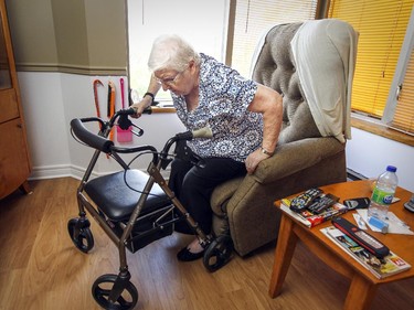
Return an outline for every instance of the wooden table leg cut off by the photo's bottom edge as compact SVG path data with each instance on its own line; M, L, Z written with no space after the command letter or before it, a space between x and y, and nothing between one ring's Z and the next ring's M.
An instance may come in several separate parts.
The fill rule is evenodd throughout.
M354 274L351 286L343 306L344 310L367 310L370 309L372 299L375 296L376 286L365 278Z

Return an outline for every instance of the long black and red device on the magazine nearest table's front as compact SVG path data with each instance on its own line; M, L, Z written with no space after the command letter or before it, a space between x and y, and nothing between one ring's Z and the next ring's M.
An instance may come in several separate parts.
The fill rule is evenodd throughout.
M382 244L380 240L378 240L367 232L360 229L348 220L343 217L336 217L332 220L332 224L335 227L352 238L368 252L375 255L378 258L383 258L384 256L390 254L390 249L384 244Z

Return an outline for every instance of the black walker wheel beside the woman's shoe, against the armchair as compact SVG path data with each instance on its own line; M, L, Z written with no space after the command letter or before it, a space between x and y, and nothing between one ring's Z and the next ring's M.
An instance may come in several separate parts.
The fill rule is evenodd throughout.
M215 238L206 248L203 257L204 267L213 272L229 263L233 252L233 240L227 235Z

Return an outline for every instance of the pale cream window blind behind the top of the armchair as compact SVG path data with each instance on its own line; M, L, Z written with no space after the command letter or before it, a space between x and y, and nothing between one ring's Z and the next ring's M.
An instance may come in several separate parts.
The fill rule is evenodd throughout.
M317 0L237 0L232 67L248 76L258 40L272 25L315 19Z

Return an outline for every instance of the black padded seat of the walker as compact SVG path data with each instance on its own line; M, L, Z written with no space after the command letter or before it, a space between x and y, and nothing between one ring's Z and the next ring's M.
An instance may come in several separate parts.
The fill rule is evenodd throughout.
M149 178L142 171L136 169L127 170L126 181L134 189L131 190L124 181L124 173L125 171L119 171L99 177L91 180L85 185L85 192L91 200L114 222L129 220ZM171 204L171 201L161 188L155 183L140 216L169 204Z

